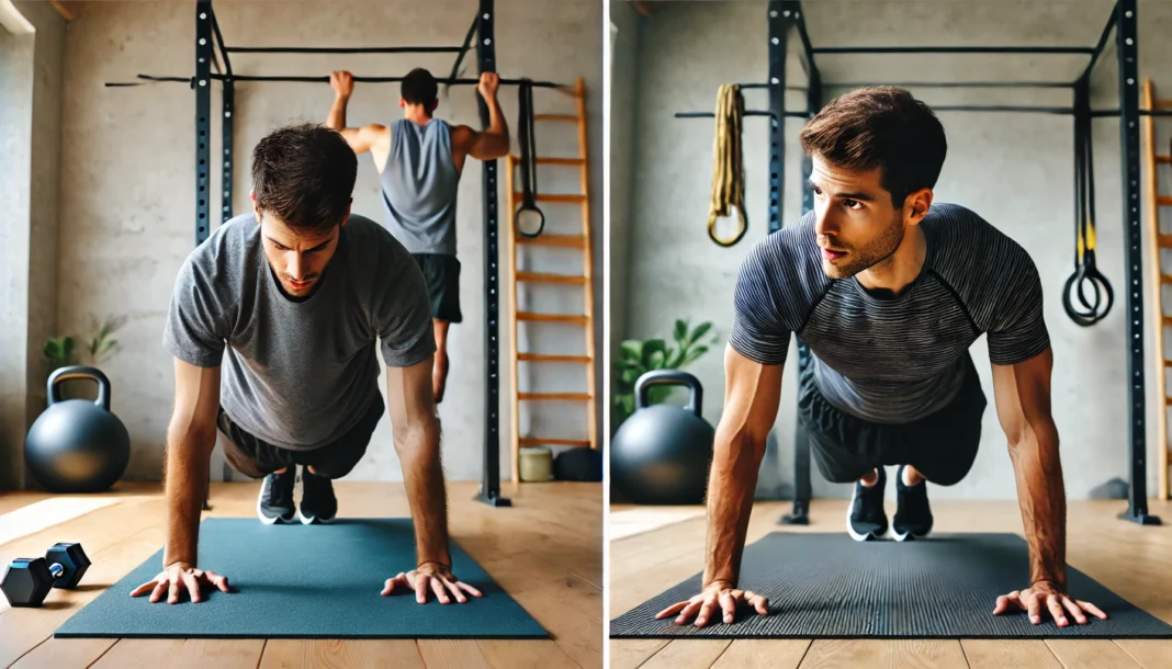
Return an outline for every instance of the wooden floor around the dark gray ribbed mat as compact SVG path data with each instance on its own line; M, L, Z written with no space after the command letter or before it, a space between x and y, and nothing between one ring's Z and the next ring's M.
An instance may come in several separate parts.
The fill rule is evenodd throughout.
M1150 503L1163 526L1140 527L1116 519L1119 501L1069 505L1067 562L1156 617L1172 623L1172 503ZM888 503L888 517L894 513ZM613 506L612 512L631 507ZM815 500L811 524L778 525L788 503L754 507L752 542L770 532L839 532L845 500ZM1022 534L1016 503L933 504L938 532ZM667 523L611 544L607 596L618 617L643 601L703 571L704 519ZM989 602L992 612L994 602ZM627 640L609 641L611 667L690 669L695 667L827 669L831 667L917 667L924 669L1170 669L1172 641L1163 640Z

